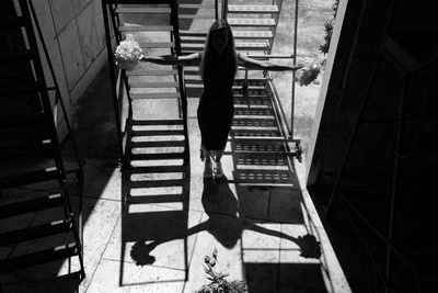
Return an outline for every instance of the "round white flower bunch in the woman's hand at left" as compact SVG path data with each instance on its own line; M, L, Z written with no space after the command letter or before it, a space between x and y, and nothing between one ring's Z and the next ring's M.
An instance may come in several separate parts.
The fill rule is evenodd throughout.
M126 40L122 41L114 53L116 65L126 70L134 70L141 58L143 52L140 45L134 40L131 34L126 35Z

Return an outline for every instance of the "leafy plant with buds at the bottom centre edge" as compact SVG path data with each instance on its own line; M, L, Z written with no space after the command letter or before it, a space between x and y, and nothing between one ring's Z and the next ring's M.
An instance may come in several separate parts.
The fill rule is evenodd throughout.
M228 273L215 272L214 267L218 262L218 250L215 248L211 257L206 256L204 258L205 271L208 274L207 279L210 281L209 284L204 285L196 293L245 293L247 292L246 283L244 281L227 281Z

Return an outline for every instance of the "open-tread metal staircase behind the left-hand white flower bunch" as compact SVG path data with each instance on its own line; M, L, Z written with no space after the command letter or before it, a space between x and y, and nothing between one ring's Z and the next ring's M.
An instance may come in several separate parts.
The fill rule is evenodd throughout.
M126 34L132 34L145 49L159 49L160 55L181 55L180 27L176 1L113 1L102 0L103 11L110 11L112 31L115 35L116 44L125 40ZM129 24L129 18L134 18L136 23L145 22L145 25ZM142 19L145 18L145 19ZM110 29L110 20L104 13L105 33L108 49L110 64L113 66L113 46ZM152 35L152 36L151 36ZM158 36L159 35L159 36ZM164 36L164 40L159 40ZM157 38L158 37L158 38ZM155 126L182 126L182 134L185 139L184 151L181 156L185 164L188 162L188 139L187 139L187 101L185 98L185 86L182 67L158 66L158 68L149 69L146 65L140 66L137 70L125 71L118 70L116 80L115 72L111 71L113 86L113 101L116 115L116 123L120 143L120 150L125 149L125 159L129 160L129 154L124 147L123 135L132 133L136 126L148 123ZM118 87L117 87L118 84ZM128 99L128 113L125 116L126 128L123 129L119 111L119 104L123 103L123 89L126 89ZM178 104L178 120L157 120L146 122L136 120L134 114L134 102L139 100L173 100ZM148 135L142 132L143 135ZM166 135L163 132L153 132L149 135ZM130 142L128 140L126 145ZM163 145L164 146L164 145ZM170 155L163 155L166 157ZM129 165L129 164L128 164ZM128 166L126 165L126 166Z

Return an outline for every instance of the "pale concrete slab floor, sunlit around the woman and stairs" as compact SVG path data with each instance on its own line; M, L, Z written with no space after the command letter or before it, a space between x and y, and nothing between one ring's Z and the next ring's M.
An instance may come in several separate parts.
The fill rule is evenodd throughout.
M290 8L288 2L285 1L284 11ZM311 23L320 25L321 32L312 27L322 35L321 15L330 4L304 1L302 5L303 15L318 19L315 13L320 13L319 22ZM287 14L283 14L281 20L290 21ZM311 31L310 26L307 25L306 31ZM279 25L278 34L285 35L287 27ZM277 45L274 53L288 47L288 43L279 44L284 47ZM306 55L309 45L303 45L300 52ZM68 185L73 209L78 206L79 196L83 198L87 278L81 282L74 278L50 278L65 274L69 266L67 261L49 263L1 275L4 292L74 292L78 288L79 292L195 292L208 283L203 263L205 256L211 256L215 248L219 260L217 270L229 273L228 280L245 280L250 292L349 292L306 190L306 159L290 161L291 187L250 188L233 181L235 157L228 146L223 166L229 181L204 181L203 162L198 157L196 99L189 101L191 168L183 171L189 184L187 190L178 191L185 202L123 209L125 181L123 171L115 166L117 144L107 77L108 68L104 68L78 102L74 115L74 135L84 160L84 182L79 185L71 174ZM284 76L275 79L280 95L290 89L288 80L290 77ZM297 89L296 133L310 133L318 91L318 84ZM138 109L141 110L137 113L149 117L176 115L175 102L142 103ZM300 123L300 120L306 122ZM69 142L64 153L66 161L73 164ZM46 182L7 190L2 201L47 194L56 191L56 182ZM42 221L47 221L47 215L37 213L15 218L9 227ZM306 255L311 246L308 238L300 238L306 235L313 235L321 243L321 257L314 251ZM14 250L2 249L0 257L37 246L27 244ZM73 259L72 270L77 268Z

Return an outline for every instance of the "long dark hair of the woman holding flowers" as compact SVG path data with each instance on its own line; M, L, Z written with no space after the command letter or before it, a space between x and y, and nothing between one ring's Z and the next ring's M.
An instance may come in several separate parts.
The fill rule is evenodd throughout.
M215 34L224 30L228 34L228 42L220 55L214 48ZM210 77L220 72L230 77L230 82L234 79L238 70L238 56L235 54L234 37L231 27L224 20L216 20L208 32L207 40L204 47L204 55L200 63L200 76L204 82L209 80ZM214 82L214 80L211 80Z

